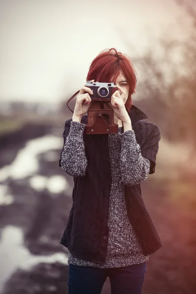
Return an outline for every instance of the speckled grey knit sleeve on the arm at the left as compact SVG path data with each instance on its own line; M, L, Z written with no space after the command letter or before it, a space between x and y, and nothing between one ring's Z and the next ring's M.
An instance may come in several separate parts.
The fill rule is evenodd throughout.
M83 141L85 124L71 122L60 159L60 167L71 176L85 175L87 159Z

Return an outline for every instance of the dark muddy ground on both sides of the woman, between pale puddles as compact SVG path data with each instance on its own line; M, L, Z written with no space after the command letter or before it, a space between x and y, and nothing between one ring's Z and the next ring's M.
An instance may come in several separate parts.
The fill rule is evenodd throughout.
M62 132L63 124L55 127L49 124L26 124L9 134L1 134L0 168L11 165L28 140L47 134L62 138ZM60 148L54 148L53 153L58 158ZM39 154L37 160L39 175L66 177L73 188L73 179L60 169L57 160L46 160L44 152ZM32 256L49 258L54 253L64 254L67 250L59 242L72 205L70 190L69 193L63 191L55 196L48 189L37 191L29 184L31 177L28 175L17 180L8 177L0 182L9 187L9 194L14 199L9 205L0 205L1 238L3 229L8 225L15 226L23 232L24 246ZM171 183L170 180L153 180L153 175L149 175L148 180L142 183L148 212L164 245L147 262L143 294L196 293L195 188L193 180L182 178ZM13 238L10 237L9 244L14 244ZM13 248L11 254L14 256ZM0 272L3 270L4 265L1 263ZM8 275L1 294L66 294L67 276L66 263L39 262L28 269L18 268ZM106 293L110 293L109 279L102 290L102 294Z

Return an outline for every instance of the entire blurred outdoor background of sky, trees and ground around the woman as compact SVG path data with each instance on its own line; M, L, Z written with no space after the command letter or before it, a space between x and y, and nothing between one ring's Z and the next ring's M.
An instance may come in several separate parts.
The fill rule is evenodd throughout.
M0 294L68 293L66 101L112 47L132 59L133 104L162 136L142 189L164 246L143 294L196 293L196 1L0 0Z

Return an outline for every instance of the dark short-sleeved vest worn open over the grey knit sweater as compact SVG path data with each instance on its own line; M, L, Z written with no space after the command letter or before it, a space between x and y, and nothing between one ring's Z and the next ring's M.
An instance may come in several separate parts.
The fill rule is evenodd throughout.
M153 173L160 129L154 123L143 121L147 115L134 105L129 116L142 156L150 160L149 173ZM71 121L68 120L65 123L64 144L69 134ZM87 123L87 116L82 117L81 123ZM88 163L86 173L85 176L73 177L73 205L60 243L78 258L103 264L108 245L107 221L112 184L108 134L84 134L83 140ZM63 148L59 159L60 166L62 152ZM163 244L147 212L140 184L124 186L124 192L128 219L139 239L144 255L150 255Z

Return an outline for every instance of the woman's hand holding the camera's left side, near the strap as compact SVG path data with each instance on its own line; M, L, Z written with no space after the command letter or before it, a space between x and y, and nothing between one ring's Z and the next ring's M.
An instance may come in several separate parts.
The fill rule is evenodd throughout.
M91 82L94 82L94 80L91 80ZM87 92L87 93L84 93ZM76 97L75 107L73 111L73 121L81 121L82 116L87 113L89 107L92 104L91 97L89 94L93 94L93 91L88 88L82 86L78 96Z

